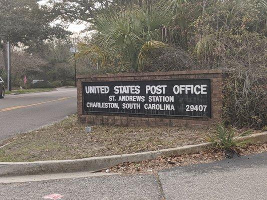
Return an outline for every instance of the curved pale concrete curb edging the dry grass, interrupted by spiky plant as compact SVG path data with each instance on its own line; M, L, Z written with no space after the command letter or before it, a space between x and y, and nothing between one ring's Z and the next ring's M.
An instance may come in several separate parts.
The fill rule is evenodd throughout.
M252 143L267 142L267 131L255 133L240 140L250 138ZM111 155L101 157L89 157L73 160L48 160L34 162L0 162L0 177L14 175L33 175L45 173L79 172L79 171L98 171L112 167L122 162L137 162L148 159L155 159L159 156L172 156L196 153L210 149L212 144L205 142L201 144L168 148L156 151L141 153L130 153L122 155Z

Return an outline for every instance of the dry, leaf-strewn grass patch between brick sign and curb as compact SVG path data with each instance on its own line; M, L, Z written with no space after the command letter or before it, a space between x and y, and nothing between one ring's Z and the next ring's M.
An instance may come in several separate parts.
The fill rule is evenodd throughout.
M71 115L61 122L6 140L0 161L77 159L144 152L205 142L211 129L97 125L90 133Z

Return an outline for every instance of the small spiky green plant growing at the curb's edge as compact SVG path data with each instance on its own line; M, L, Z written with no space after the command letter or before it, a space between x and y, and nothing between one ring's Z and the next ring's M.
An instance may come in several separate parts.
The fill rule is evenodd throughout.
M251 130L236 133L235 129L227 128L224 122L218 123L212 136L207 136L207 141L213 143L213 147L224 150L225 157L231 158L235 153L234 147L245 146L250 139L241 139L240 137L251 134Z

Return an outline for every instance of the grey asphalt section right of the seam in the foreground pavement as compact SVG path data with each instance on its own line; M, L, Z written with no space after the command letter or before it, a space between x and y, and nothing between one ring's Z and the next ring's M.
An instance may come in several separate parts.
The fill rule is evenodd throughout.
M266 200L267 152L159 173L165 199Z

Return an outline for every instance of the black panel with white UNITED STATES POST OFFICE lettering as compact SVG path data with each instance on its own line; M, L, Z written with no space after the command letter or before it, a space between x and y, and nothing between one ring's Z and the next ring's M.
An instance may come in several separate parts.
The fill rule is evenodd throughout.
M83 82L85 112L210 117L210 80Z

